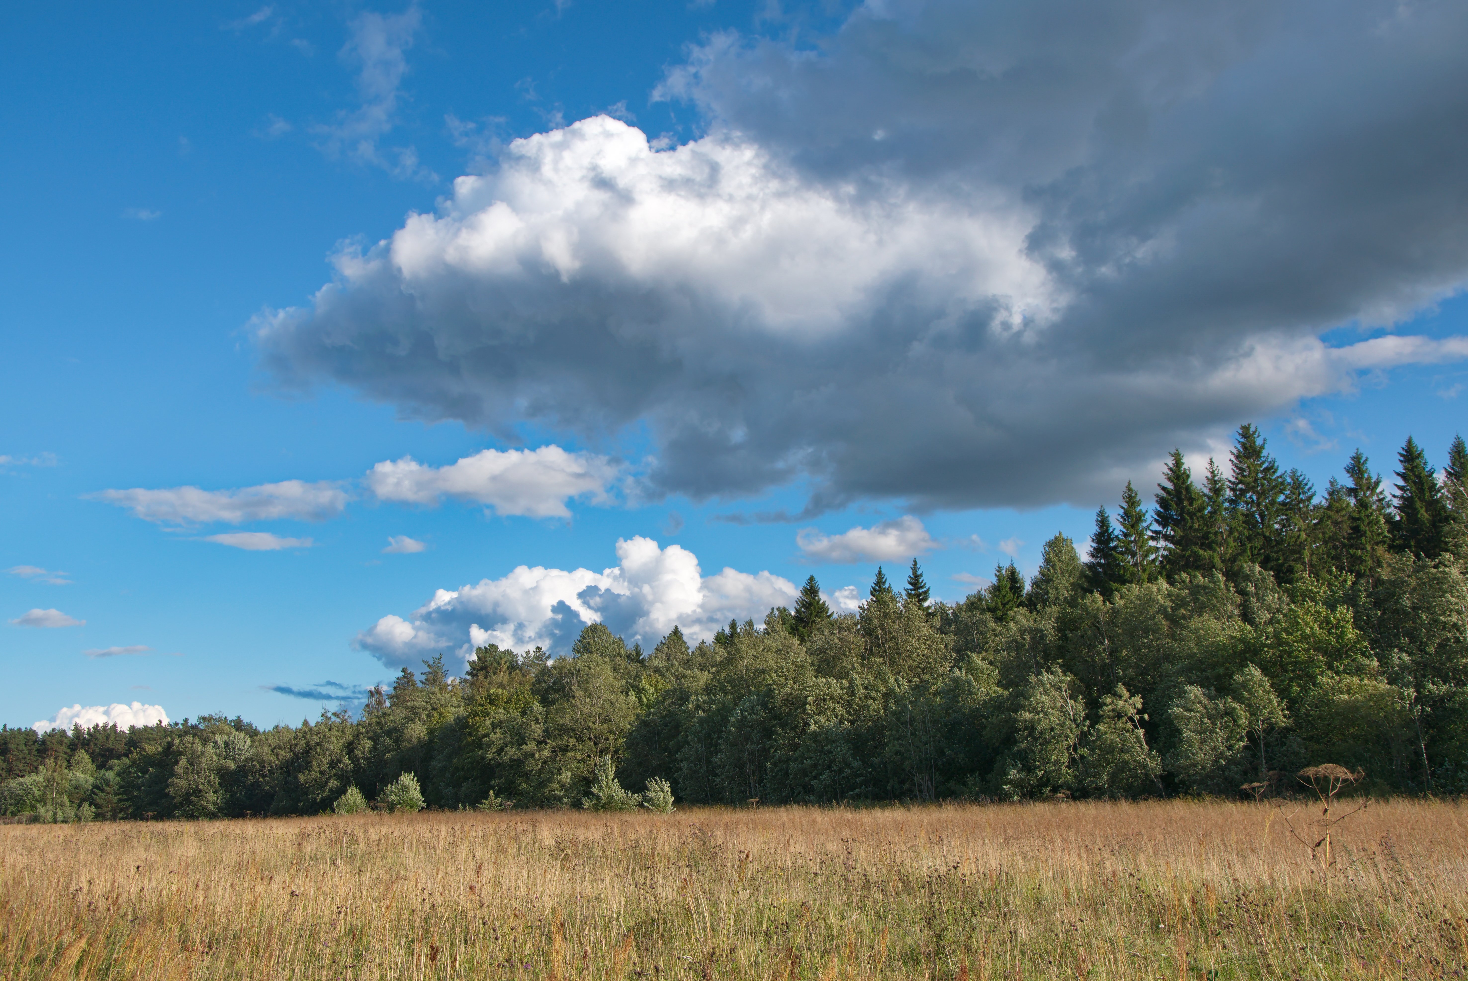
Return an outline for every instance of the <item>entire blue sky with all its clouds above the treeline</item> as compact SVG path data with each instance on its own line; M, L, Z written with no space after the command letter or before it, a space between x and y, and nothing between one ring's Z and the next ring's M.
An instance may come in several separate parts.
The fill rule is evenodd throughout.
M962 599L1468 404L1468 9L0 13L0 723Z

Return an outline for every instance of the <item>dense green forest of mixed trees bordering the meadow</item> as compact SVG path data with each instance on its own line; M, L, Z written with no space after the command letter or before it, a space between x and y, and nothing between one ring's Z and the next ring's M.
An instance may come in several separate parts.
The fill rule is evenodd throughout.
M671 783L690 803L1145 797L1287 790L1312 764L1374 793L1468 790L1468 448L1408 439L1393 492L1359 451L1323 493L1252 426L1149 510L1129 483L1082 561L1057 535L947 605L918 562L854 615L794 609L652 651L586 627L568 656L482 648L376 689L360 720L260 730L0 728L0 808L37 819L581 806ZM360 789L360 794L351 792ZM411 793L410 793L411 796Z

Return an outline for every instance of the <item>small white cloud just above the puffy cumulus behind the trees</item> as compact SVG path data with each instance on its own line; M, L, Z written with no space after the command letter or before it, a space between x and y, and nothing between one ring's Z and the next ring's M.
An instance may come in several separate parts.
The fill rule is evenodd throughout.
M404 457L376 464L366 477L379 501L437 504L442 496L477 501L499 514L537 518L570 517L565 502L590 498L608 501L617 466L606 457L539 449L484 449L445 467L426 467Z

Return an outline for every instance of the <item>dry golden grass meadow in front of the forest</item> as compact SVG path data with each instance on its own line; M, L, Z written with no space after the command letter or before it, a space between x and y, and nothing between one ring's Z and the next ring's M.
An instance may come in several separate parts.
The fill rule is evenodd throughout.
M0 977L1462 977L1468 806L1336 836L1327 896L1267 803L7 825Z

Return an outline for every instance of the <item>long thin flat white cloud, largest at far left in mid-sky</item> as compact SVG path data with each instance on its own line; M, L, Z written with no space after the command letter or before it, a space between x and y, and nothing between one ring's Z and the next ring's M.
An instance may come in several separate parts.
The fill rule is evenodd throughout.
M336 483L321 480L282 480L238 490L200 490L198 488L163 488L148 490L100 490L87 495L131 508L135 517L160 524L208 524L223 521L269 521L295 518L324 521L335 518L346 507L346 492Z

